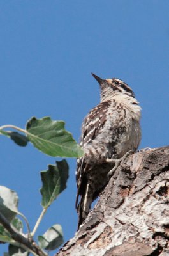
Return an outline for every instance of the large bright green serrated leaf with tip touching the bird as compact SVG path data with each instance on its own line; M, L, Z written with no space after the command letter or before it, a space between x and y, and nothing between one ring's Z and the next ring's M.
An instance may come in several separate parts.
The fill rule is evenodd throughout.
M64 129L63 121L52 121L50 117L31 118L26 124L27 137L34 147L54 157L80 157L83 150Z

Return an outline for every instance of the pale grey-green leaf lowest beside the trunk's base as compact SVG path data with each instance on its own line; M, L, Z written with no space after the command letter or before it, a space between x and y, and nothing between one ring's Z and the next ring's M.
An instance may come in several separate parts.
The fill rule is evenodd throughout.
M63 243L63 234L61 225L53 225L43 234L38 236L40 248L45 250L55 250Z

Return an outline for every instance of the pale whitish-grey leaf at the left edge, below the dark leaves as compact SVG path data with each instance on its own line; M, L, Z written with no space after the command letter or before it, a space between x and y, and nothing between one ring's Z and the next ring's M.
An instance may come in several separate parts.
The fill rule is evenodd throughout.
M8 221L11 221L18 214L17 207L17 193L5 186L0 186L0 211Z

